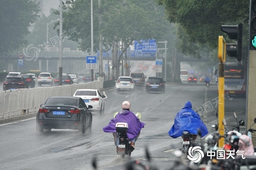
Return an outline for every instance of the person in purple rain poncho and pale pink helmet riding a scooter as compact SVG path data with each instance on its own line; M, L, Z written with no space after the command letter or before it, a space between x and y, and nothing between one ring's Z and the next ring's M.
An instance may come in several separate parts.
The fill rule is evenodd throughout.
M116 114L114 119L111 119L109 125L103 127L104 132L112 132L114 136L114 142L116 147L119 145L119 138L116 133L116 123L125 122L128 123L127 137L131 141L131 147L135 149L135 142L140 135L140 130L144 127L145 123L140 122L140 119L135 116L134 113L130 111L131 104L128 101L122 103L122 110Z

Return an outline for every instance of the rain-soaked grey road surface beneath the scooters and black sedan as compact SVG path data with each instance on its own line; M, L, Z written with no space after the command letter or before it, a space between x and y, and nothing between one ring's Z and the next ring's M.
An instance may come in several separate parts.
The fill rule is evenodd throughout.
M207 95L205 95L207 93ZM113 114L121 109L124 100L131 102L131 111L142 114L141 121L146 125L141 130L131 159L140 159L143 163L157 166L160 170L169 169L174 160L171 144L181 148L182 139L172 139L167 132L174 122L175 114L186 101L192 102L194 110L205 102L212 104L207 118L203 118L208 130L216 123L214 111L217 109L217 86L206 88L202 84L166 85L166 93L146 94L143 88L137 88L134 94L128 92L116 94L115 90L105 91L105 114L93 114L93 127L90 134L81 135L78 130L51 130L43 134L36 133L35 118L22 122L0 125L0 164L4 170L92 170L91 161L97 158L99 170L123 170L126 159L116 154L112 133L104 133L102 127L108 125ZM206 96L206 97L205 97ZM245 98L226 98L225 117L233 125L233 112L238 119L245 119ZM197 139L198 142L204 139ZM145 161L145 147L152 156L151 163ZM138 168L139 169L139 168Z

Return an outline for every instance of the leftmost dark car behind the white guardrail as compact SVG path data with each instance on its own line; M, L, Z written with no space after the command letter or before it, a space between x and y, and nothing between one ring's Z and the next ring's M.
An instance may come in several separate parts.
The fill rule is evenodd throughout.
M6 77L3 82L3 90L15 90L18 88L29 88L26 79L23 77Z

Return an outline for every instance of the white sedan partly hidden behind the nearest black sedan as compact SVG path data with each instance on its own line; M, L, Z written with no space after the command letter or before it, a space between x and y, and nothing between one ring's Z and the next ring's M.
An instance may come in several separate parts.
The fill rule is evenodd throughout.
M78 89L73 96L81 97L84 100L84 103L88 106L93 106L92 109L89 109L91 112L97 112L104 114L105 109L105 100L106 96L101 95L100 92L96 89Z

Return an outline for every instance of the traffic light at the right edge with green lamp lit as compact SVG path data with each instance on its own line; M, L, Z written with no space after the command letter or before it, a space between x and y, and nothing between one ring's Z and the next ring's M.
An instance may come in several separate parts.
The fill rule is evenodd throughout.
M256 50L256 0L251 0L249 25L250 25L250 50Z

